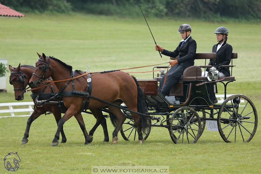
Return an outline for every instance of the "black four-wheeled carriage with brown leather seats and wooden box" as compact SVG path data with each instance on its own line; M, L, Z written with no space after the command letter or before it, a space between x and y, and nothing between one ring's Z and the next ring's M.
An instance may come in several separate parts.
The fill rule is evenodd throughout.
M150 134L151 127L165 127L175 144L195 143L202 135L206 124L209 130L218 131L225 142L236 140L249 142L253 138L258 124L258 115L253 102L244 95L226 97L226 87L235 81L235 77L220 77L212 81L209 81L211 79L208 77L201 77L201 68L209 67L206 66L206 59L215 58L216 53L196 53L196 59L205 59L205 65L186 68L168 97L158 93L162 72L157 77L153 74L153 79L138 79L146 99L147 114L156 120L144 133L144 139ZM233 59L236 58L237 53L233 53L232 65L226 67L232 68ZM224 85L222 104L211 102L206 83L211 83L215 88L217 83ZM129 120L124 123L121 134L125 140L135 140L137 131L135 123L129 113L125 111L124 113Z

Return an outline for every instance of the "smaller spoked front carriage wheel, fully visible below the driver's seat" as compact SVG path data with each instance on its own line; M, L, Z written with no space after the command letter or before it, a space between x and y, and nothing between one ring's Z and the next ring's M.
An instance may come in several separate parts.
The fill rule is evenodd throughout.
M169 134L175 144L186 142L192 144L199 139L201 128L201 121L197 112L192 108L182 107L171 116Z

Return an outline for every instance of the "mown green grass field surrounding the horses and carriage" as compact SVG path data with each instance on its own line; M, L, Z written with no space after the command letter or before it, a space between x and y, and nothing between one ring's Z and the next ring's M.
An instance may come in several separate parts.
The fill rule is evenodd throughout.
M213 32L219 26L229 29L228 43L238 59L233 61L236 81L228 85L228 94L243 94L255 104L260 114L260 23L210 23L147 19L158 45L174 50L181 40L177 28L183 23L192 27L197 52L211 52L216 44ZM255 28L250 31L249 28ZM125 19L84 14L26 14L20 19L0 18L0 58L17 67L19 63L35 65L36 52L54 56L73 70L104 71L166 63L169 58L155 51L155 44L144 19ZM167 64L166 64L167 65ZM195 61L204 65L204 61ZM149 71L151 67L135 69ZM13 87L7 79L7 93L0 93L0 102L16 102ZM133 74L152 78L152 73ZM218 86L222 94L222 86ZM31 101L30 93L22 102ZM2 115L0 115L2 116ZM87 131L95 123L92 115L84 114ZM39 117L32 123L29 141L21 145L28 117L0 118L0 173L3 158L18 152L19 173L91 173L91 166L169 166L170 173L260 173L260 127L249 143L226 144L218 132L204 131L196 144L174 144L165 128L153 128L143 144L126 142L119 135L112 144L113 127L107 120L109 143L102 143L102 127L93 142L84 145L84 136L72 118L64 124L65 144L51 147L57 125L52 115Z

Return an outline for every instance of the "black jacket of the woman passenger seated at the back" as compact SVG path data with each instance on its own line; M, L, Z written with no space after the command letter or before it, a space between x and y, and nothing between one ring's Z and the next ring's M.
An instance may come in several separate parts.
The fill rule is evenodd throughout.
M214 45L212 48L212 52L216 52L217 48L218 44ZM216 52L216 59L210 59L209 65L214 66L216 69L218 69L218 67L222 65L229 65L232 57L232 50L232 46L224 42L219 50ZM207 68L207 71L209 71L209 68ZM221 68L219 72L223 72L224 75L226 75L227 77L230 76L229 67Z

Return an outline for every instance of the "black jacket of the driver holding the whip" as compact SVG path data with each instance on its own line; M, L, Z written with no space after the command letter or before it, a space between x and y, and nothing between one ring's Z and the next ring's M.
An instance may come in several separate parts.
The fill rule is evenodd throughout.
M194 65L194 60L196 56L197 43L192 37L184 42L181 47L182 42L179 43L178 47L174 51L163 50L162 54L169 57L177 57L178 64L181 64L184 69L189 66Z

